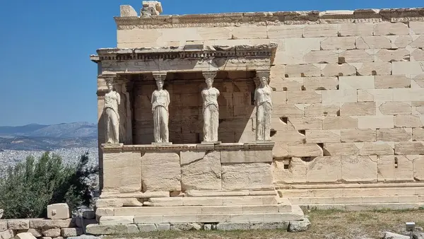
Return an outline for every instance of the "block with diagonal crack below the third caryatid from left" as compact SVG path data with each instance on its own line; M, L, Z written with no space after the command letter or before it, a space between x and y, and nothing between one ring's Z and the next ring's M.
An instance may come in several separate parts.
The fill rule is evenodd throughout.
M182 190L221 190L220 152L206 153L196 161L182 163L181 184Z

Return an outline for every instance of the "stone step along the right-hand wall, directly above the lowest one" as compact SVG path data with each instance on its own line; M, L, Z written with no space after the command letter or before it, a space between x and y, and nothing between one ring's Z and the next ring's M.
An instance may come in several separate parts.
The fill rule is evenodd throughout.
M363 196L363 197L288 197L292 204L378 204L378 203L424 203L424 196Z

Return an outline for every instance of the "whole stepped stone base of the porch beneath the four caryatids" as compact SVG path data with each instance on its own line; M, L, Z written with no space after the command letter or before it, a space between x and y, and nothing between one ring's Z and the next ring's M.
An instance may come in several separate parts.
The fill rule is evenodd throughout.
M302 210L273 186L272 148L273 142L104 147L105 184L96 203L100 225L92 227L251 228L302 220Z

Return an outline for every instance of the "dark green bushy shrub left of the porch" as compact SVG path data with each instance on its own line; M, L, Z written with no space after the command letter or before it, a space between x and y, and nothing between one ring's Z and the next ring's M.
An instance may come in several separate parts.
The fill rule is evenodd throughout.
M90 180L96 173L97 167L88 166L88 153L69 165L49 152L37 161L28 156L0 179L0 208L5 218L39 218L47 216L48 204L65 202L71 211L90 206L94 190Z

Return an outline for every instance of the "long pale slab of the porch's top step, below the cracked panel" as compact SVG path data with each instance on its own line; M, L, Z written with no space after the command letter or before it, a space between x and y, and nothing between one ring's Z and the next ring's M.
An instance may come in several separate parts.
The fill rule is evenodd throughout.
M225 205L270 205L278 204L278 196L240 197L162 197L151 198L148 206L225 206Z

